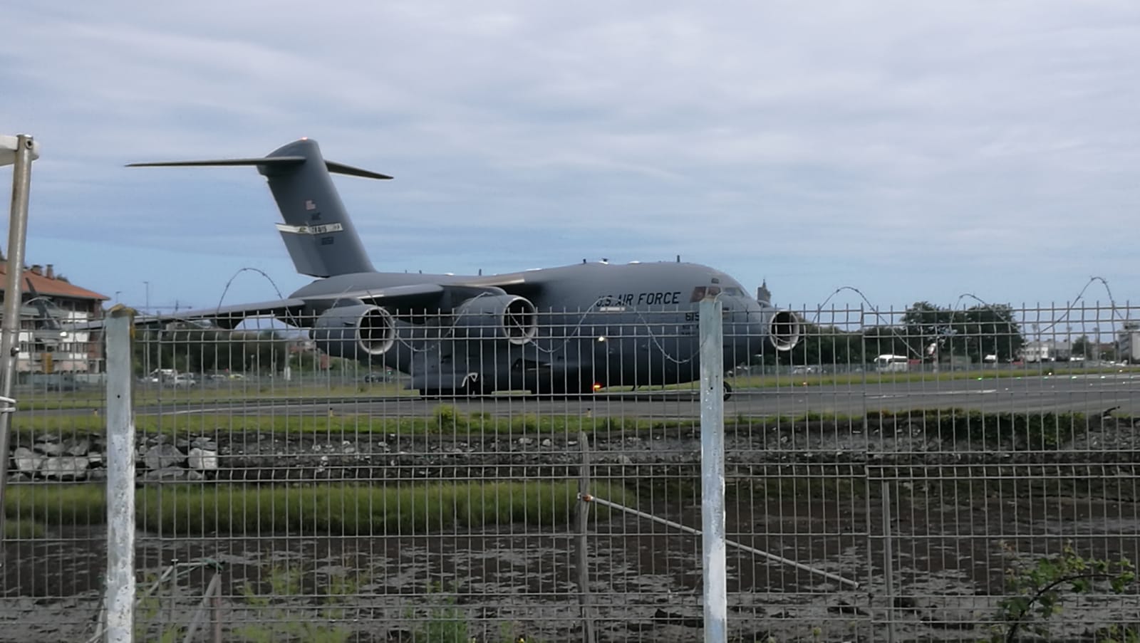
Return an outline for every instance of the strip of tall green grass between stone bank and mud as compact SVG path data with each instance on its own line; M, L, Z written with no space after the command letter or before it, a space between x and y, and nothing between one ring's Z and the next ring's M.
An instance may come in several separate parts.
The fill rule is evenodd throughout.
M619 485L596 485L595 493L618 503L626 499ZM577 494L576 481L225 483L145 488L136 493L135 502L138 527L166 535L369 536L512 523L567 524L578 506ZM97 485L13 485L5 512L13 520L48 527L101 524L106 521L106 495Z

